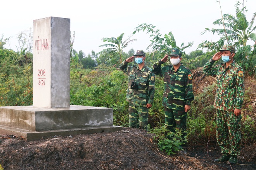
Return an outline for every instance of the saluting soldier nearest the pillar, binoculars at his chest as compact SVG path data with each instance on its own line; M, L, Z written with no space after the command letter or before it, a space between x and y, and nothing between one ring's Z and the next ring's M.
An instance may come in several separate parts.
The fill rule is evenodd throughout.
M138 65L128 66L134 58ZM154 100L155 75L145 65L145 58L144 51L138 50L119 68L128 75L126 99L129 102L129 127L147 130L148 111Z

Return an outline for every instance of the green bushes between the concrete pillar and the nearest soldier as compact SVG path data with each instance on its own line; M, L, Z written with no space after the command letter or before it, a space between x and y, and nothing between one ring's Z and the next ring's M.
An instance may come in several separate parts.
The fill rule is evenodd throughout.
M114 67L100 65L93 70L82 69L78 59L73 59L71 104L113 108L114 124L128 126L127 79L122 71Z

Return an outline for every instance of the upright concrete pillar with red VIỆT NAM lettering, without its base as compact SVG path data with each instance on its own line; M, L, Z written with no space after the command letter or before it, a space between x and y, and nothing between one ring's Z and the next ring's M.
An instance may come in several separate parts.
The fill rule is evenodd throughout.
M69 107L70 19L33 20L33 106Z

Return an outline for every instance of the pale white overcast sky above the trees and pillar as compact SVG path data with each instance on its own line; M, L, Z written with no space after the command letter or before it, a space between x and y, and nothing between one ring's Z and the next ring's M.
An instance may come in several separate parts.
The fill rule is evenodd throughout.
M122 33L123 40L137 39L124 49L126 53L131 48L149 52L146 49L150 44L149 34L139 32L131 36L138 24L145 23L155 26L162 35L172 32L177 46L194 42L184 50L188 54L201 42L220 38L208 32L201 34L205 28L216 28L213 22L221 18L221 11L235 16L236 3L237 0L2 0L0 38L10 37L4 48L16 51L17 35L33 29L33 20L61 17L71 21L71 33L75 33L73 48L82 50L86 56L92 50L98 53L104 49L99 47L106 44L102 38L118 37ZM256 12L256 0L244 0L244 6L250 22Z

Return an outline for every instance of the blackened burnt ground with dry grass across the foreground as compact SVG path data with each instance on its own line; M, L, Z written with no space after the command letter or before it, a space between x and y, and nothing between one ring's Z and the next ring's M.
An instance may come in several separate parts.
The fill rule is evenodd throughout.
M153 134L123 128L113 133L52 136L40 141L0 135L4 170L255 170L255 145L242 149L237 165L215 163L220 149L214 141L189 143L186 155L168 156ZM249 155L249 156L248 156Z

